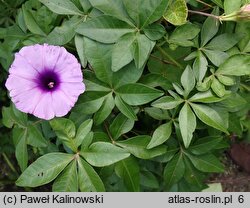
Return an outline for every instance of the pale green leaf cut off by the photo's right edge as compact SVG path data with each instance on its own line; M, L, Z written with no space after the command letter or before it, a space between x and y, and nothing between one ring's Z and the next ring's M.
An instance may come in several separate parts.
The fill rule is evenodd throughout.
M232 76L250 75L250 56L244 54L231 56L219 67L216 74Z

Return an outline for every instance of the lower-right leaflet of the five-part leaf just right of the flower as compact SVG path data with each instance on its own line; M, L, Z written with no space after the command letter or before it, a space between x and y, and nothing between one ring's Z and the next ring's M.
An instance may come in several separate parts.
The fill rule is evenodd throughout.
M115 97L115 105L121 111L123 115L131 120L137 120L137 116L133 110L133 108L125 103L120 96Z

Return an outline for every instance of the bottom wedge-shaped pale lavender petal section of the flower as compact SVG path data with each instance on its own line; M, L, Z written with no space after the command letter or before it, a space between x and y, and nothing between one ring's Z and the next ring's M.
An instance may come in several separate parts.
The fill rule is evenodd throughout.
M33 114L45 120L50 120L54 118L55 113L53 108L51 107L53 104L51 92L43 93L41 96L41 100L38 102Z

